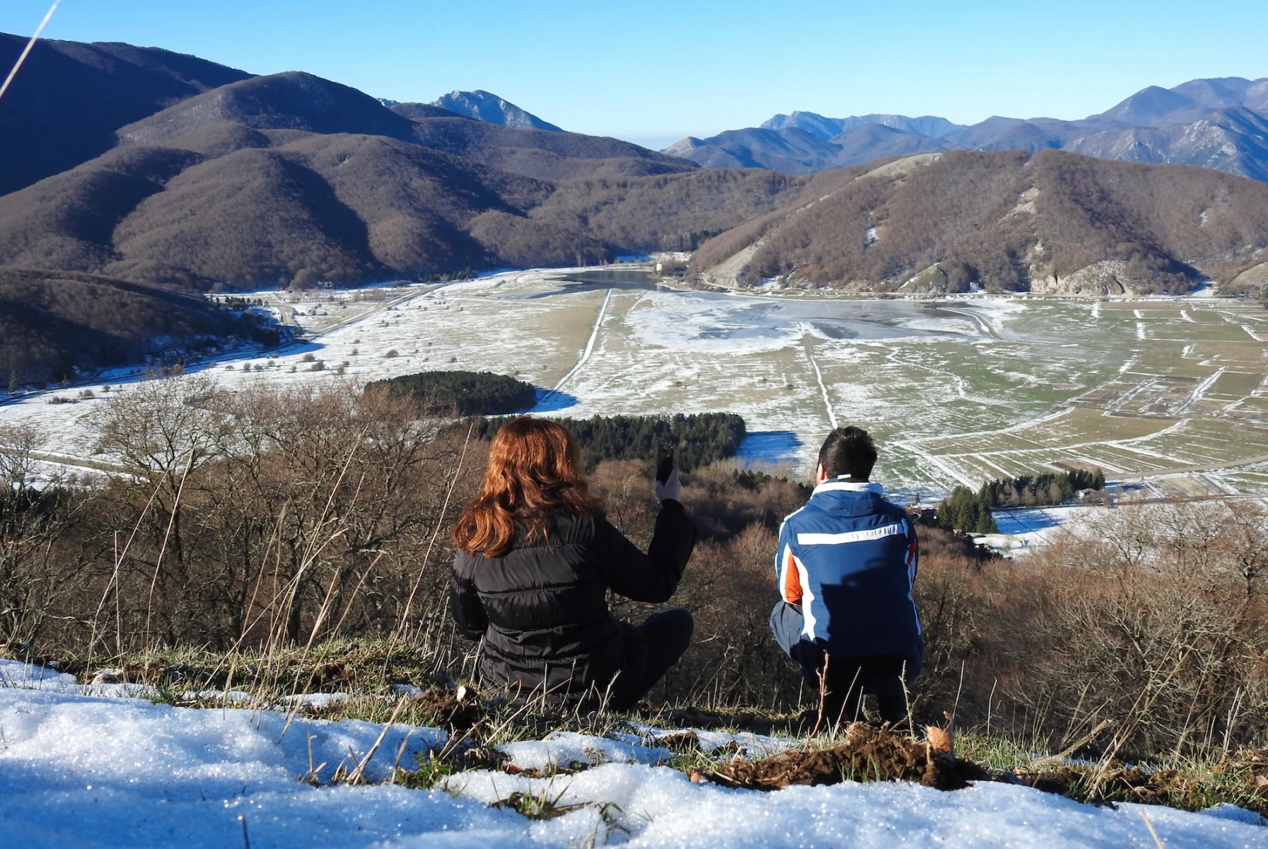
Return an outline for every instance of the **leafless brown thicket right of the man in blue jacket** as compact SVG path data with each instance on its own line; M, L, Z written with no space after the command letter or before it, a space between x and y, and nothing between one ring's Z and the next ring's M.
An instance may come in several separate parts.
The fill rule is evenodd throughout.
M1101 742L1134 753L1262 741L1265 528L1246 504L1120 508L1021 562L929 561L918 600L933 655L947 657L922 687L945 701L964 669L961 721L990 716L1036 745L1102 720L1116 731ZM936 588L969 615L940 622Z

